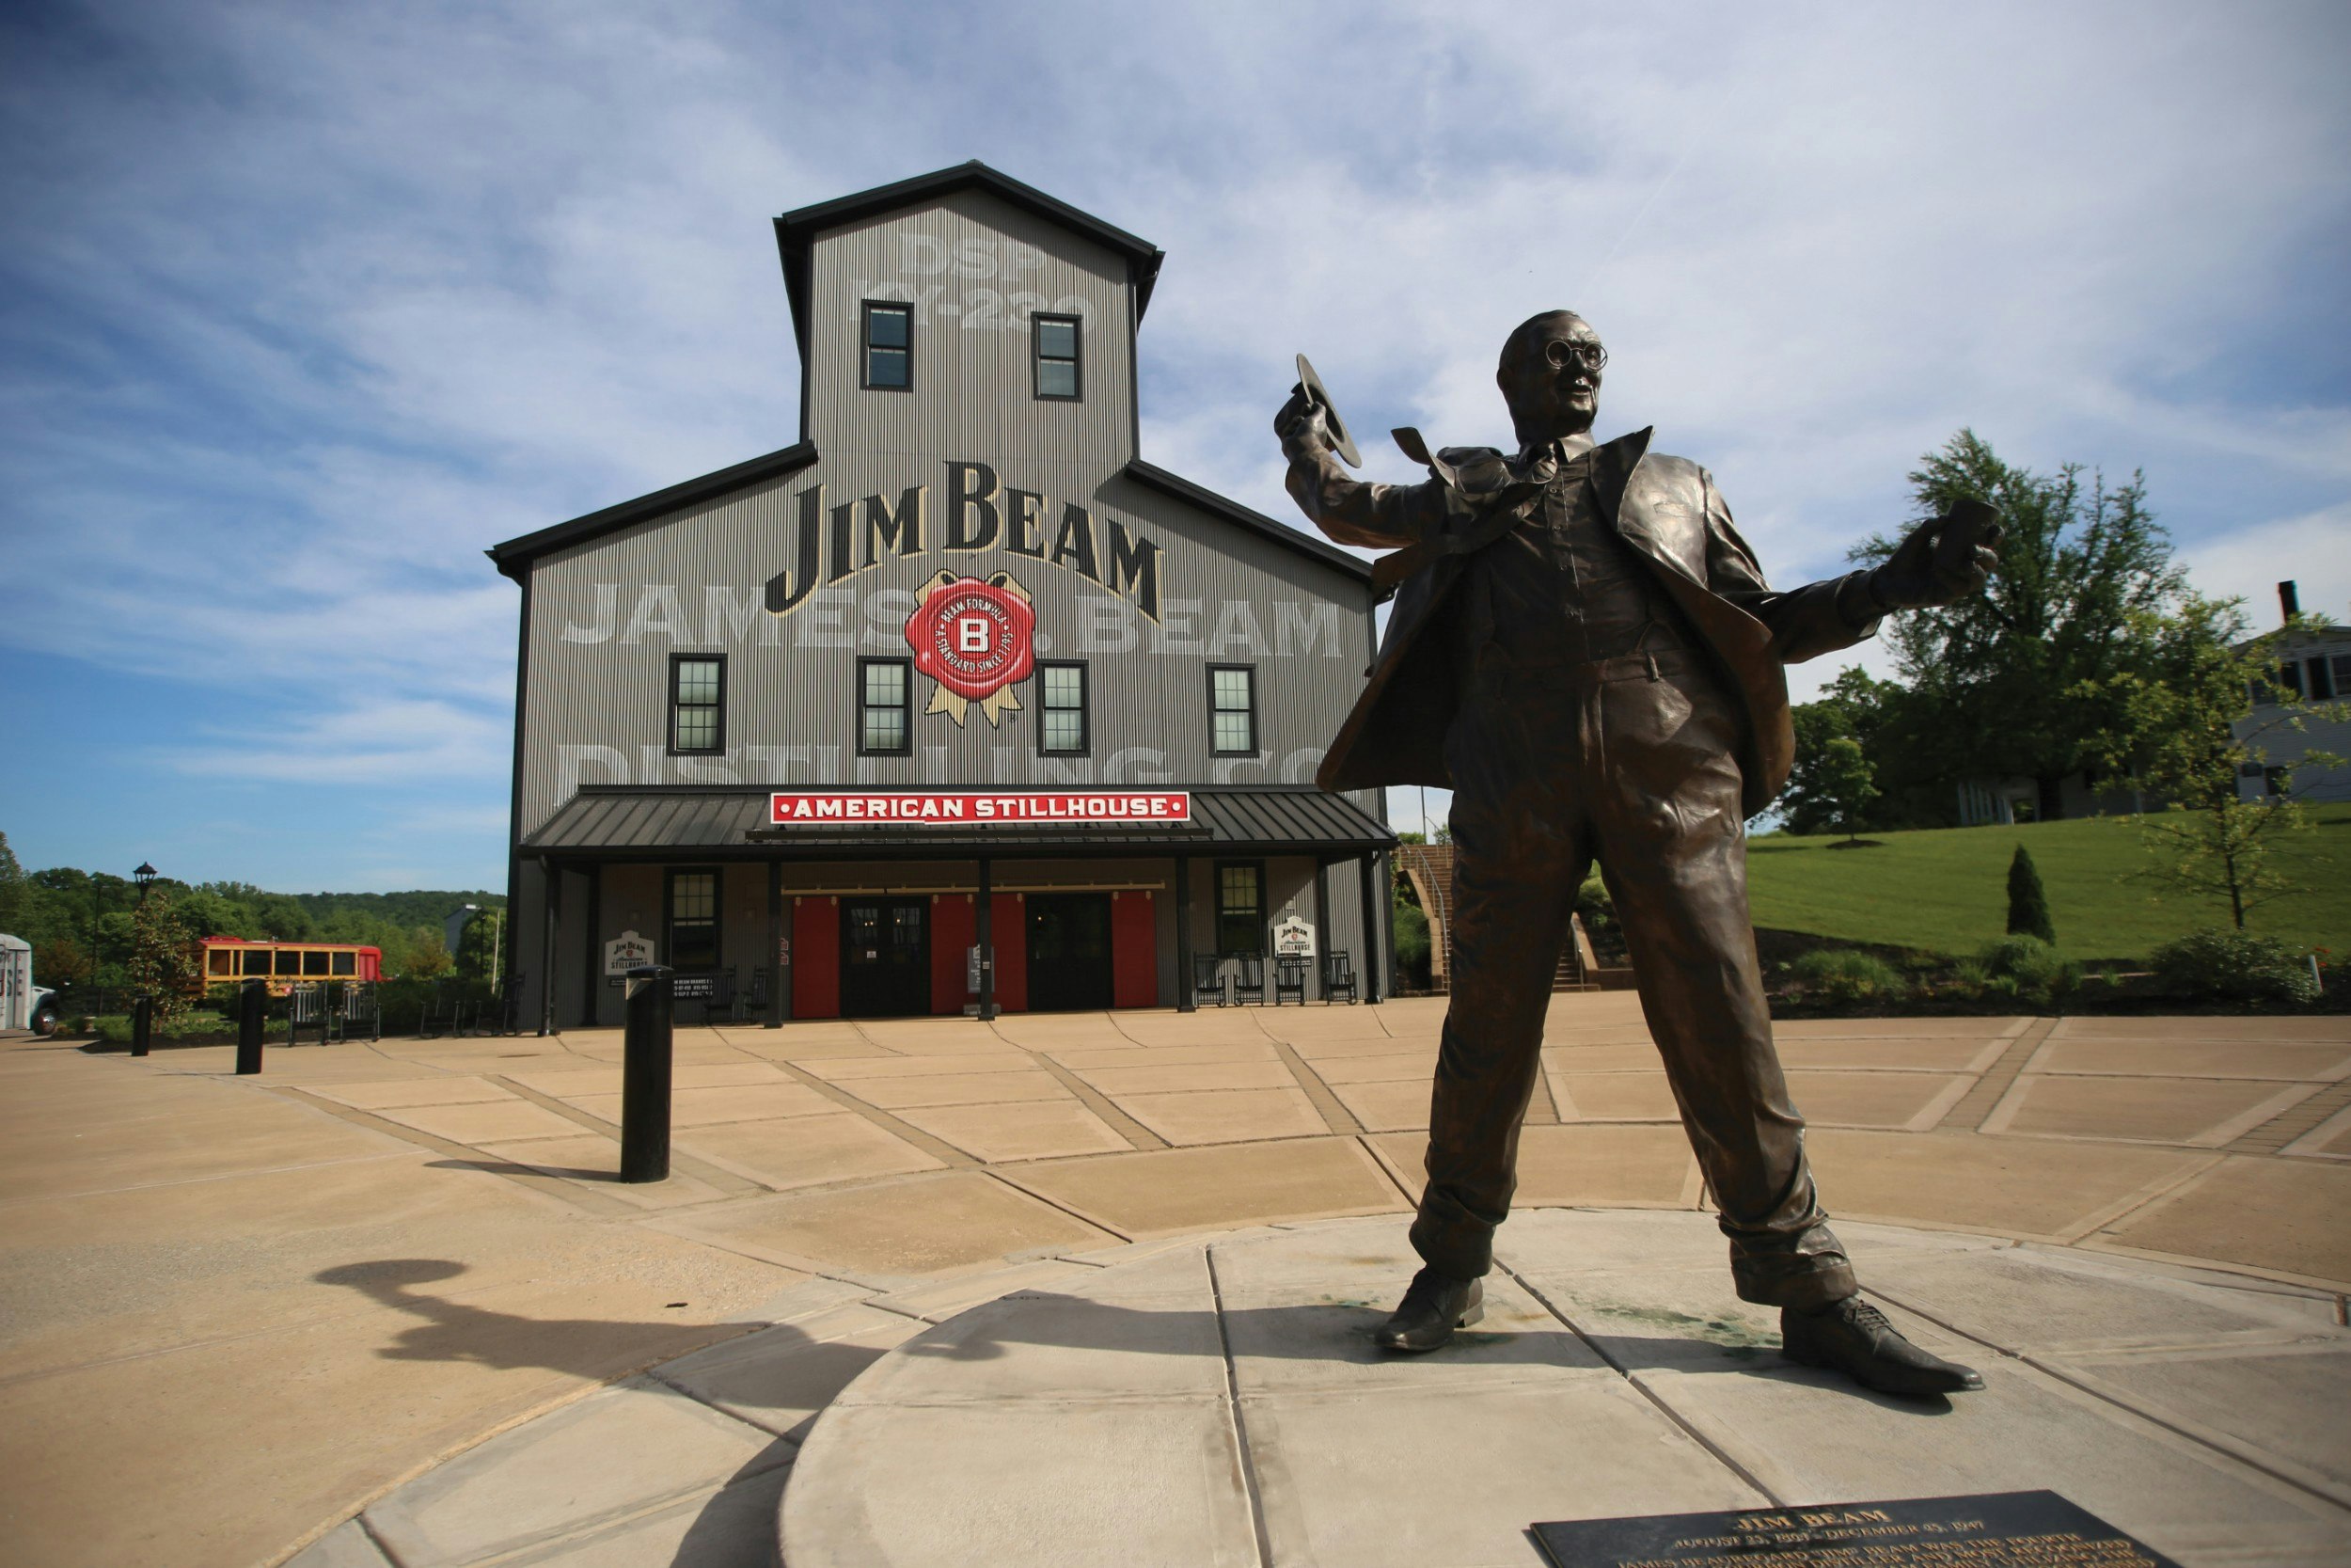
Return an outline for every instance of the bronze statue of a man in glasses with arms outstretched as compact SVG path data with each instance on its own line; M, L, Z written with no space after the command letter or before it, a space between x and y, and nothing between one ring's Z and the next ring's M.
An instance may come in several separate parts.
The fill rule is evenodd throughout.
M1794 759L1782 665L1982 590L1998 524L1970 508L1883 567L1775 592L1704 468L1650 451L1650 430L1592 442L1606 364L1582 317L1523 322L1495 374L1519 451L1429 456L1399 430L1432 475L1411 487L1352 480L1305 388L1274 418L1305 515L1340 543L1396 548L1380 581L1401 583L1317 783L1453 790L1453 1001L1413 1220L1427 1267L1378 1342L1436 1349L1479 1314L1552 973L1596 858L1740 1295L1780 1307L1796 1361L1893 1394L1982 1387L1855 1295L1773 1048L1744 820Z

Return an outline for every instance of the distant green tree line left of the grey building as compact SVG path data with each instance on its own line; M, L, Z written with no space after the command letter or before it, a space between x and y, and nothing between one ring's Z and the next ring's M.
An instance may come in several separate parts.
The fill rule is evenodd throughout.
M176 882L158 877L139 917L139 886L113 872L71 865L28 872L0 832L0 931L33 943L40 985L134 983L141 950L158 933L186 947L207 936L287 943L360 943L383 950L383 973L430 980L494 969L489 922L465 929L461 952L442 945L442 922L458 905L503 910L503 893L270 893L249 882Z

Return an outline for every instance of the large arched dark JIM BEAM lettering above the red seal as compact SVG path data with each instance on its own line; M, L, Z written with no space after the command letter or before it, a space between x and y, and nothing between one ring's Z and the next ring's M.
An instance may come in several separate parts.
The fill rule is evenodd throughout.
M1100 583L1147 621L1159 621L1161 550L1140 527L1128 529L1107 512L1096 517L1074 501L1060 503L1056 512L1044 491L1002 484L987 463L947 463L947 510L936 520L940 529L931 527L929 503L929 484L905 487L896 503L875 494L828 508L823 484L792 496L792 564L766 581L766 614L790 616L818 585L842 583L893 559L931 550L1002 550Z

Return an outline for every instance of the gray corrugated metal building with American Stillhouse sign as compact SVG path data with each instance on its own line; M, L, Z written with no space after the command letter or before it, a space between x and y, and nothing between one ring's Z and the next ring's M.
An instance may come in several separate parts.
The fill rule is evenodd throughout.
M1312 785L1371 569L1140 458L1159 249L978 162L776 242L799 440L489 552L524 1018L644 952L771 1023L1190 1006L1277 929L1389 990L1378 792Z

